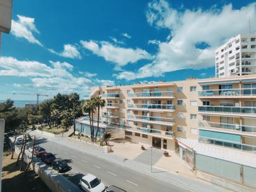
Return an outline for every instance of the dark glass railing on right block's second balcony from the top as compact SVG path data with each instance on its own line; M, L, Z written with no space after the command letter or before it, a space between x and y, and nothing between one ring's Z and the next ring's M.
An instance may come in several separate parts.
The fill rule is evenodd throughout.
M198 106L199 112L256 114L256 107Z

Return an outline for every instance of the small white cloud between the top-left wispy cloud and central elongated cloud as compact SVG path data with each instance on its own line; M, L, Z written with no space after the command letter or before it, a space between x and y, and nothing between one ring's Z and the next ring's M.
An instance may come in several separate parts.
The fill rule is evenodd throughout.
M64 50L60 53L56 52L52 48L48 48L49 52L54 53L56 55L60 55L61 57L66 57L66 58L81 58L80 52L78 49L75 47L75 45L71 44L66 44L64 45Z

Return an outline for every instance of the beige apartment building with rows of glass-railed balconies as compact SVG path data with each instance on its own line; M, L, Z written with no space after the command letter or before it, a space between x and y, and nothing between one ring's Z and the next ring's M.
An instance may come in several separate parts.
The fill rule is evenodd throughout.
M256 151L256 75L152 82L95 88L103 127L158 149L180 150L190 163L190 142Z

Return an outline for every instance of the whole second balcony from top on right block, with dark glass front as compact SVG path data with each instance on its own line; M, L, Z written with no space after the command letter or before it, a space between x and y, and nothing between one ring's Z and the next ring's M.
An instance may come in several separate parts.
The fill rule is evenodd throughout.
M200 114L213 114L221 116L243 116L256 117L256 107L235 107L235 106L198 106Z

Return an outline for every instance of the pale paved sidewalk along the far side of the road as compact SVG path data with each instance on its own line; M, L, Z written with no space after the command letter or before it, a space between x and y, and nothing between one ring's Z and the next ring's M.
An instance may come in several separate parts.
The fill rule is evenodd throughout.
M45 137L45 136L43 136ZM47 137L46 137L47 138ZM81 144L81 142L76 140L70 140L67 138L56 138L52 140L48 138L52 142L56 142L60 145L65 145L66 147L70 147L75 150L80 150L84 153L89 153L90 155L94 155L97 158L101 158L103 160L107 160L112 163L117 163L126 168L130 168L135 171L139 171L140 173L144 173L146 175L152 176L154 178L158 178L160 180L164 180L172 185L180 186L186 190L190 191L227 191L224 188L213 185L209 182L200 180L198 178L190 179L183 176L180 176L175 173L170 173L165 170L160 170L158 168L153 168L151 172L150 165L145 165L144 163L136 162L134 160L129 160L127 158L114 155L113 153L103 153L102 150L98 147L94 147L88 144Z

